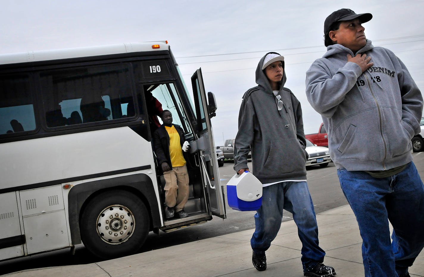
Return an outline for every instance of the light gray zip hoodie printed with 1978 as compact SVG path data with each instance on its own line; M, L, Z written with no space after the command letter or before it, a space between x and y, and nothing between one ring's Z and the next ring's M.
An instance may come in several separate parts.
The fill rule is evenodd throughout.
M362 73L347 54L365 53ZM421 131L423 98L393 52L367 40L357 53L335 44L306 73L306 95L322 115L337 168L381 171L412 161L411 139Z

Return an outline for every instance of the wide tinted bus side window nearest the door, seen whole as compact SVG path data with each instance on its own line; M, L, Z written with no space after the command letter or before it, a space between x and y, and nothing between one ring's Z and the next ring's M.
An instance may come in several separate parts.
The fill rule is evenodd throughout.
M40 77L47 127L135 115L125 64L52 70Z

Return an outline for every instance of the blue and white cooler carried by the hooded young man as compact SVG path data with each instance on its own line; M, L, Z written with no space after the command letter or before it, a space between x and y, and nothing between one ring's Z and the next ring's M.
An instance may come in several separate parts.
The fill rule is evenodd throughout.
M228 205L239 211L256 211L262 205L262 183L249 171L235 174L227 183Z

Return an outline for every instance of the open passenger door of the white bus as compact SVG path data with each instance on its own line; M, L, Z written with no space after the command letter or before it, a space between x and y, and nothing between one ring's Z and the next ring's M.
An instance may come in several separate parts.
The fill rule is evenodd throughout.
M212 215L226 218L223 187L221 187L218 161L216 159L215 143L209 117L208 103L204 89L202 72L199 68L191 77L197 124L195 133L198 139L196 147L200 151L200 164L204 172L204 185L209 196L209 207Z

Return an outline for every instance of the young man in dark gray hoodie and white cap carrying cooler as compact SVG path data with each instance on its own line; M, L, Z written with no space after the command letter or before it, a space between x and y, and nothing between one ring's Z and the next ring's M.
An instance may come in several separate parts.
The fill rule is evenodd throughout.
M318 227L306 182L305 135L302 110L296 96L284 87L284 57L267 53L256 70L257 87L243 95L234 143L234 170L248 171L252 154L253 174L263 184L262 206L254 215L251 238L252 263L266 269L265 251L281 226L283 209L293 213L302 242L304 276L336 275L323 264L325 252L318 245Z

